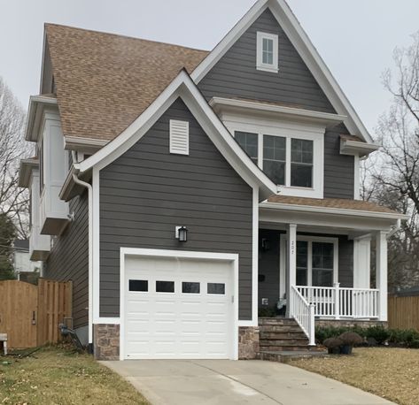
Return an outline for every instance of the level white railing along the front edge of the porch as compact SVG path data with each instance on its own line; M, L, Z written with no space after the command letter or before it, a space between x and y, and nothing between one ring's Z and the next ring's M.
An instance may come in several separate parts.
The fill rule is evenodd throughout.
M297 286L299 294L314 305L315 317L377 318L378 290L370 288Z

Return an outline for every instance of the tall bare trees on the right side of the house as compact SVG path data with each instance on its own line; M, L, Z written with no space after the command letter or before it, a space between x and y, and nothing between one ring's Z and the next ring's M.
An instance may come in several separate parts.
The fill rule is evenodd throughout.
M361 194L409 215L389 245L389 281L419 282L419 32L407 48L394 50L395 69L384 72L392 106L376 132L383 148L363 166Z

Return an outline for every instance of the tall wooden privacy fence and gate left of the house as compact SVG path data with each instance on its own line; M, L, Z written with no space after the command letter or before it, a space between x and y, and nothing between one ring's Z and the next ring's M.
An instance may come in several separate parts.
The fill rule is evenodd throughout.
M35 348L60 339L58 324L72 317L72 282L39 279L38 286L0 281L0 333L9 348Z

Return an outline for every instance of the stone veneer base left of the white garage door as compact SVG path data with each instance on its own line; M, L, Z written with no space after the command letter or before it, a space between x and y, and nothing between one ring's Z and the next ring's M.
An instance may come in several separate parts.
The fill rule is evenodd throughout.
M120 360L120 325L93 325L93 344L97 360Z

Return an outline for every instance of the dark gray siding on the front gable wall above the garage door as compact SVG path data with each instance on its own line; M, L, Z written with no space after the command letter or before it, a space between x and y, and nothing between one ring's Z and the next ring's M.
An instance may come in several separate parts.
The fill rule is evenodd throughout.
M169 119L190 123L190 155L171 155ZM188 241L175 240L187 225ZM252 188L178 99L100 172L100 315L120 315L120 247L239 254L239 313L252 317Z

